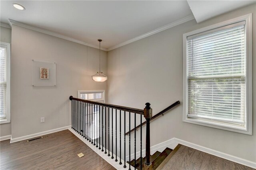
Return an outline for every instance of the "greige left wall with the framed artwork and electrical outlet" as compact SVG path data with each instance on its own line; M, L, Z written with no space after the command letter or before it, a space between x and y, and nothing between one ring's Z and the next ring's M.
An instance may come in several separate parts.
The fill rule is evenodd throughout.
M70 125L69 99L78 90L106 90L92 80L98 71L99 50L26 28L12 26L12 138ZM107 72L105 51L102 71ZM56 62L56 87L32 87L32 59ZM40 123L45 117L45 123Z

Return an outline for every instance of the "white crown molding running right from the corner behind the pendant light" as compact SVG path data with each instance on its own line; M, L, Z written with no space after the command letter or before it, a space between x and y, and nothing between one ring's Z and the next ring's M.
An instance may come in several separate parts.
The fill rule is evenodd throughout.
M142 34L142 35L140 35L140 36L138 36L138 37L135 37L135 38L132 38L132 39L126 41L126 42L122 42L122 43L120 43L120 44L118 44L118 45L114 45L114 46L108 48L107 51L111 51L111 50L116 49L116 48L118 48L118 47L122 47L122 46L124 46L124 45L129 44L129 43L138 41L138 40L140 40L140 39L142 39L142 38L146 38L146 37L148 37L148 36L152 36L153 34L156 34L156 33L158 33L158 32L167 30L167 29L172 28L172 27L174 27L174 26L178 26L178 25L180 25L180 24L183 24L183 23L185 23L185 22L188 22L188 21L194 20L194 19L195 19L195 18L194 18L193 15L186 16L186 17L184 17L184 18L182 18L182 19L180 19L180 20L174 21L174 22L172 22L172 23L170 23L170 24L167 24L167 25L165 25L165 26L162 26L162 27L160 27L160 28L157 28L157 29L155 29L155 30L152 30L152 31L150 31L150 32L147 32L146 34Z

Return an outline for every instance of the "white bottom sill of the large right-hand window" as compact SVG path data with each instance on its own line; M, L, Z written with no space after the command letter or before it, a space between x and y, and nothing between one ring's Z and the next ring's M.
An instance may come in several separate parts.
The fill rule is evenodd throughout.
M240 125L230 125L228 123L210 121L205 119L196 119L190 117L185 117L183 119L183 122L252 135L252 130L248 130L246 127Z

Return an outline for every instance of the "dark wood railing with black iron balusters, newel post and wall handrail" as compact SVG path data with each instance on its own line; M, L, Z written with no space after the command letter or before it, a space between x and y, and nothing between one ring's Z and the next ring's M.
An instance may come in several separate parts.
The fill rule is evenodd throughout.
M146 107L142 109L134 109L130 107L110 105L106 103L100 103L95 101L89 101L84 99L69 97L71 100L71 121L72 129L78 132L81 136L87 139L91 144L96 146L99 150L119 164L124 164L126 168L126 135L129 134L129 144L128 144L128 164L129 170L131 169L131 146L134 146L134 160L136 164L136 151L140 149L140 170L150 170L152 169L152 164L150 162L150 120L156 118L152 117L152 109L150 103L146 103ZM178 101L179 103L179 101ZM174 107L174 106L173 106ZM168 107L169 108L169 107ZM168 108L163 111L169 110ZM161 112L160 112L161 113ZM164 113L164 112L163 112ZM146 119L146 122L142 123L142 115ZM159 115L159 113L157 114ZM160 114L161 115L161 114ZM136 143L136 130L131 130L131 116L134 116L134 130L140 128L140 141L139 144ZM128 124L126 117L128 117ZM136 121L136 118L138 118ZM114 119L114 120L113 120ZM123 120L123 124L121 123ZM119 125L117 122L119 121ZM111 123L111 127L110 127ZM139 125L138 125L139 124ZM142 162L142 125L146 124L146 161ZM129 127L128 133L126 132L126 125ZM136 126L137 125L137 126ZM122 129L123 128L123 129ZM131 132L134 131L134 144L131 144ZM123 133L122 133L123 132ZM119 134L119 135L118 135ZM123 140L122 140L123 134ZM119 138L119 141L118 141ZM115 144L115 148L114 148ZM119 152L117 152L117 146L119 145ZM136 147L139 145L139 147ZM111 147L110 147L111 146ZM108 151L108 152L107 152ZM123 151L123 153L122 153ZM111 154L110 154L111 153ZM124 160L122 160L122 157ZM138 162L137 162L138 163Z

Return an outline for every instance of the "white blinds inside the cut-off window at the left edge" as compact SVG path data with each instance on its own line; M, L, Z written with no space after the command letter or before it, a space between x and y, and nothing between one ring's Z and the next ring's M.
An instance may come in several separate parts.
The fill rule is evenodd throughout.
M0 47L0 119L6 119L6 47Z

